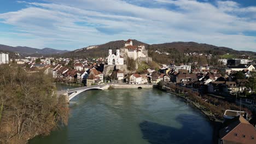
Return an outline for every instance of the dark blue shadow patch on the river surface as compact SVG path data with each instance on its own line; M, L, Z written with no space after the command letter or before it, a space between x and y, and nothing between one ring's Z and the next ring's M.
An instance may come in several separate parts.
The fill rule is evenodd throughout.
M143 139L152 144L212 143L212 140L206 138L207 135L202 129L203 125L200 125L202 119L195 115L179 115L177 121L182 124L181 129L150 121L141 122L139 127Z

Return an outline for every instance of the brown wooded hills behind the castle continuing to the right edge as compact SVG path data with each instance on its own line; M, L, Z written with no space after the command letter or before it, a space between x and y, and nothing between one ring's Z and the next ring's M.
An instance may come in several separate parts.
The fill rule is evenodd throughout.
M149 50L150 53L154 51L160 52L168 52L168 53L190 53L190 52L197 52L197 53L210 53L212 55L225 55L226 53L234 54L234 55L251 55L255 56L256 52L251 51L237 51L233 50L228 47L219 47L214 45L208 44L199 44L195 42L173 42L173 43L164 43L164 44L146 44L138 40L132 40L133 45L142 45L146 46L146 49ZM66 57L107 57L108 56L108 49L117 49L120 47L124 47L125 40L117 40L117 41L110 41L106 44L101 45L94 45L84 47L82 49L74 50L71 52L63 53L62 56Z

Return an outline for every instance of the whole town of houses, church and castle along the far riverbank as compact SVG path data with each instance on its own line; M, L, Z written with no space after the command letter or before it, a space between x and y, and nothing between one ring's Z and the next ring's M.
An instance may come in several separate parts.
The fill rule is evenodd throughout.
M167 52L156 51L156 53L167 55ZM203 53L184 53L184 55L212 57ZM255 116L252 115L256 112L256 97L253 95L254 82L256 82L255 61L247 58L219 58L219 66L199 65L196 62L160 64L148 56L148 50L144 45L134 45L129 39L124 46L117 46L116 49L110 49L109 46L108 57L28 56L9 59L8 53L1 53L0 64L17 64L26 70L27 74L44 71L44 74L53 77L54 82L66 85L86 87L103 83L124 86L154 85L194 103L213 121L225 122L226 119L232 121L236 119L236 122L248 125L250 133L255 134L255 129L253 131ZM236 116L240 116L241 113L243 117L237 119ZM251 120L248 115L251 116ZM247 131L243 128L240 130ZM231 139L223 139L225 135L231 135L226 131L223 132L223 129L220 129L220 133L222 133L220 141Z

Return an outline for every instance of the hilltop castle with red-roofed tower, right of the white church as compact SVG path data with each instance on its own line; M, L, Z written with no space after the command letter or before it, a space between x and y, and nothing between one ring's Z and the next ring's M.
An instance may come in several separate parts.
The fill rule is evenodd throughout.
M132 58L136 60L139 57L148 57L148 50L145 49L144 45L141 46L135 46L132 45L132 40L129 39L125 43L125 49L123 49L123 52L126 53L126 55L129 58Z

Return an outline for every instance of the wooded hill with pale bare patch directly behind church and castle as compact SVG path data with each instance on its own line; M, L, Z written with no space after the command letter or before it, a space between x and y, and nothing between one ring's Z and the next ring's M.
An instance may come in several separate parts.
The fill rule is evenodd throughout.
M142 43L141 41L138 40L132 40L133 45L146 45L148 44ZM115 50L117 47L120 49L121 47L124 47L125 45L125 40L117 40L117 41L110 41L106 44L101 44L101 45L94 45L94 46L88 46L84 47L82 49L74 50L71 52L63 53L60 56L64 57L73 57L73 58L82 58L82 57L107 57L108 56L108 49Z

